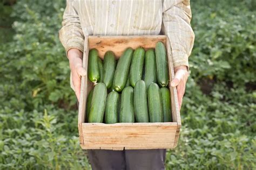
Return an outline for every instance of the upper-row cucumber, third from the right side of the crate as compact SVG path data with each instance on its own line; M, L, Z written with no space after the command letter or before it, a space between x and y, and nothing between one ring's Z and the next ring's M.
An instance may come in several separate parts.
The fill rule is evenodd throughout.
M130 69L130 83L134 87L138 80L142 80L145 50L142 47L135 49Z

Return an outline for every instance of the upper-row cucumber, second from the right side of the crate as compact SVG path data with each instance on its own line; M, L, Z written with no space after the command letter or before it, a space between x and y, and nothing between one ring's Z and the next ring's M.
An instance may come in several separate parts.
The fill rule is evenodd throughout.
M157 82L157 65L154 49L147 50L145 54L144 81L146 88L149 88L152 82Z

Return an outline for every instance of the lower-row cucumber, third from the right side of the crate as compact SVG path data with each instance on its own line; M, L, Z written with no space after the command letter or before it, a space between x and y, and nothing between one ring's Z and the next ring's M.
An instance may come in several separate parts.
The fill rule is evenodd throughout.
M136 122L149 122L149 111L147 110L146 84L143 80L139 80L135 84L133 101Z

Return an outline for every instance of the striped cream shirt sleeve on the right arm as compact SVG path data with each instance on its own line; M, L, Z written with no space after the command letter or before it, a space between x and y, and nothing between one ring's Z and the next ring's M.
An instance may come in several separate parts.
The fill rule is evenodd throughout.
M194 44L191 17L190 0L164 0L163 29L170 40L174 68L178 66L189 68L188 56Z

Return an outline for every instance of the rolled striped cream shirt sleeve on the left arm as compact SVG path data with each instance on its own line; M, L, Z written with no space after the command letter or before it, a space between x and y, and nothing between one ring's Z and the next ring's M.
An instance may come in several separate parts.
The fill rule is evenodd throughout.
M63 14L62 28L59 31L59 39L68 54L69 49L84 50L84 34L81 28L78 12L74 5L77 1L67 0Z

